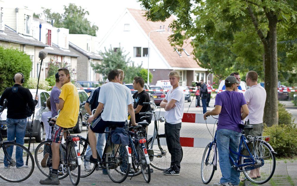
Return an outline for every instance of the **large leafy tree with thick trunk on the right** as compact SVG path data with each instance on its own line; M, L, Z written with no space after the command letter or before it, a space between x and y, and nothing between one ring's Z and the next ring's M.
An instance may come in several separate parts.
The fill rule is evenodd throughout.
M262 71L267 93L264 121L268 126L278 123L277 30L287 31L290 25L296 29L296 1L138 1L150 21L165 21L172 14L176 16L170 24L173 34L168 40L181 48L193 38L190 40L193 54L202 67L220 72L229 67Z

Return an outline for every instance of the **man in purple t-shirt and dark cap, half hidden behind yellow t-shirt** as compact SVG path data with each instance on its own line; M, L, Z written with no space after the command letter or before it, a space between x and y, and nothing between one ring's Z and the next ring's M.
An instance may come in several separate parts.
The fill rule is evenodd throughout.
M50 92L50 107L52 111L52 118L58 115L57 108L59 108L59 102L60 102L59 96L62 88L62 83L60 82L58 72L56 73L55 78L56 78L56 85L53 87L52 91Z

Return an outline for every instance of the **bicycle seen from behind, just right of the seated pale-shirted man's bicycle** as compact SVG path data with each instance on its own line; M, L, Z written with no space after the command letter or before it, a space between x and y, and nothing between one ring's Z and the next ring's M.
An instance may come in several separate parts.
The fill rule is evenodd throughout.
M129 146L131 148L132 154L132 167L134 173L128 176L138 176L143 174L143 178L147 183L151 181L151 169L150 169L150 159L147 149L147 138L146 138L146 126L148 122L139 122L136 126L129 126L128 121L126 121L126 132L129 137ZM139 169L140 167L140 169ZM132 179L132 178L131 178Z

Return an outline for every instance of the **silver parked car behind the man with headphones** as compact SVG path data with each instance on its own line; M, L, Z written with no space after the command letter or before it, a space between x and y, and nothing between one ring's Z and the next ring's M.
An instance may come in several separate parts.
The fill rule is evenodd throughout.
M33 98L36 94L36 89L29 89ZM34 115L34 121L33 121L33 127L32 127L32 136L35 137L36 142L40 143L43 141L43 134L45 131L44 125L41 122L41 114L43 112L48 112L48 108L46 107L46 99L48 99L50 95L47 93L46 90L39 89L38 90L38 104L35 106L35 115ZM8 103L9 104L9 103ZM1 115L2 118L2 124L6 124L6 117L7 117L7 109L5 109ZM25 137L29 137L29 128L31 128L31 122L32 122L32 116L30 118L27 118L28 123L26 126L26 134ZM1 131L3 137L7 136L7 131L2 130Z

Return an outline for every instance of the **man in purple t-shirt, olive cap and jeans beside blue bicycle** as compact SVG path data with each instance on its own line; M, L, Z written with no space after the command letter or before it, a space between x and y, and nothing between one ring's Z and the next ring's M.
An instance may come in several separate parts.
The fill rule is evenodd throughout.
M229 161L229 147L238 152L241 137L241 120L249 114L247 102L242 93L234 91L239 82L234 76L228 76L225 80L226 90L217 94L215 108L204 114L204 119L209 115L219 115L217 126L217 148L219 152L220 169L222 178L215 186L239 185L240 172L231 168ZM243 114L241 115L241 109ZM233 160L237 155L231 153Z

